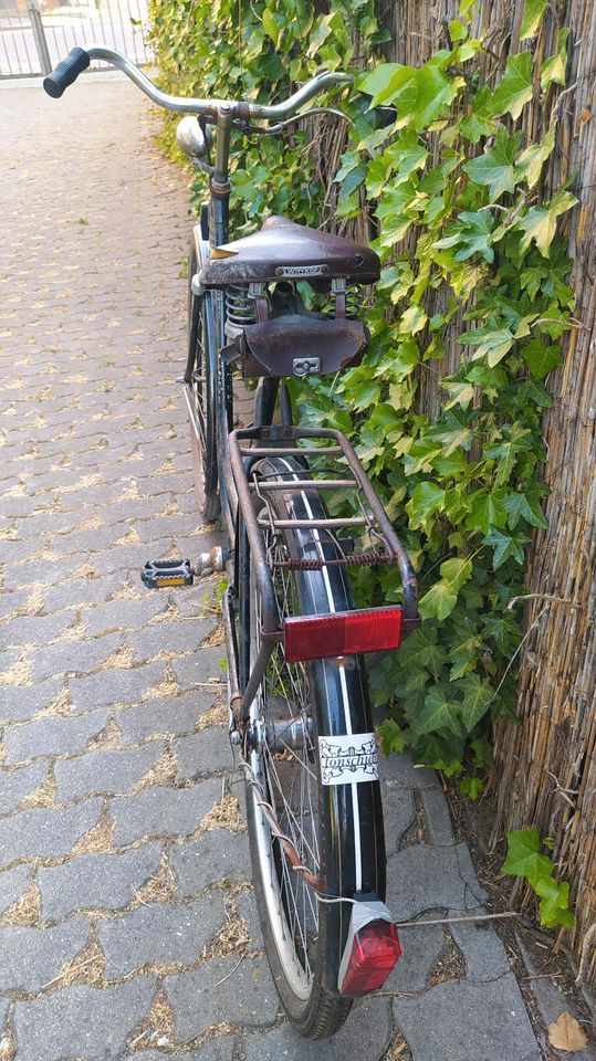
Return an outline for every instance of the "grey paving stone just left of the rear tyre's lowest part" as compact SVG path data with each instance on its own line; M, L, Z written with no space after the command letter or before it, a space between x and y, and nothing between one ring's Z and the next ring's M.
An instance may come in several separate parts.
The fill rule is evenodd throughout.
M275 1021L281 1004L265 958L244 958L237 966L238 957L232 954L166 977L177 1042L188 1042L220 1022L261 1028Z

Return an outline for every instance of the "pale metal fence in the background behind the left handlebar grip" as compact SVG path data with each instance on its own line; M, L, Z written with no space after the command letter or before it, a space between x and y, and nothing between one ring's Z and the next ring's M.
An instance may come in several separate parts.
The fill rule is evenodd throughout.
M49 74L75 44L93 43L149 63L147 0L0 0L0 77Z

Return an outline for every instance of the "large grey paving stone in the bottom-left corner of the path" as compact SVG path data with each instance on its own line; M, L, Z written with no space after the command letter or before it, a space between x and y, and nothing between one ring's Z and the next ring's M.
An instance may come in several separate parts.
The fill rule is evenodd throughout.
M147 1013L155 977L121 987L67 987L32 1002L18 1002L14 1029L19 1061L116 1061Z

